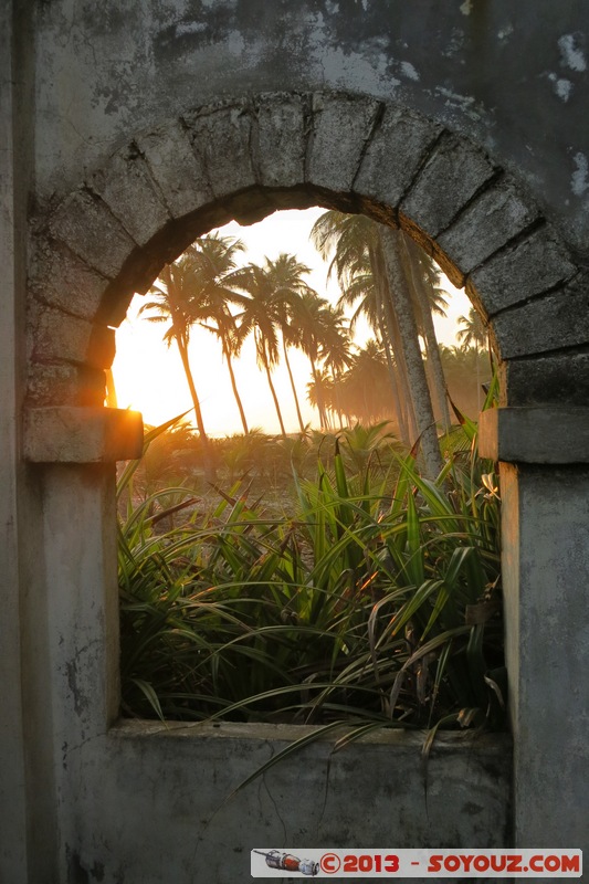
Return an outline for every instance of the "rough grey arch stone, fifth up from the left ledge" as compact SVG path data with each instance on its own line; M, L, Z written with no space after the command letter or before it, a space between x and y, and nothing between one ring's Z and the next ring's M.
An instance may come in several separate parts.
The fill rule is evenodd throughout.
M170 220L161 193L136 147L115 154L87 183L138 245L146 245Z

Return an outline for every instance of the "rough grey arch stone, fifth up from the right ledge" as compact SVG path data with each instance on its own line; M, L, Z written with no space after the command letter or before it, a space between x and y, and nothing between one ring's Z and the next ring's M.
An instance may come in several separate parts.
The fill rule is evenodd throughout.
M494 173L482 150L445 135L402 200L400 211L430 236L438 236Z

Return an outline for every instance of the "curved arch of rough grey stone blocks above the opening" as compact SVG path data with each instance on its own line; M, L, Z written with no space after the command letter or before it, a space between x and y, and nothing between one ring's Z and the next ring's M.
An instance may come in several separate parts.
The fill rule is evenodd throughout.
M29 404L102 404L113 327L196 235L317 203L403 228L466 286L491 320L505 404L585 394L571 367L587 356L568 350L589 337L587 273L513 177L392 103L265 93L136 134L40 219Z

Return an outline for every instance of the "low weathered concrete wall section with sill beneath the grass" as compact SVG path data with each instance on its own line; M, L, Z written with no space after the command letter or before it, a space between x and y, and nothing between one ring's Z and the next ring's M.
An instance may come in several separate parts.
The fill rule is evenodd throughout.
M314 728L127 722L84 756L71 867L105 881L239 882L250 851L361 844L507 846L511 739L382 733L333 754L323 739L233 790ZM162 838L162 821L168 821Z

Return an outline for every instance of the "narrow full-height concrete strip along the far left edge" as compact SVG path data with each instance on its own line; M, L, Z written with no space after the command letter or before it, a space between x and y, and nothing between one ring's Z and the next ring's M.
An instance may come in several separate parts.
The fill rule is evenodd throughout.
M24 730L21 590L27 532L20 408L24 390L27 199L32 40L28 10L0 4L0 881L28 884L30 786ZM27 48L28 43L28 48Z

